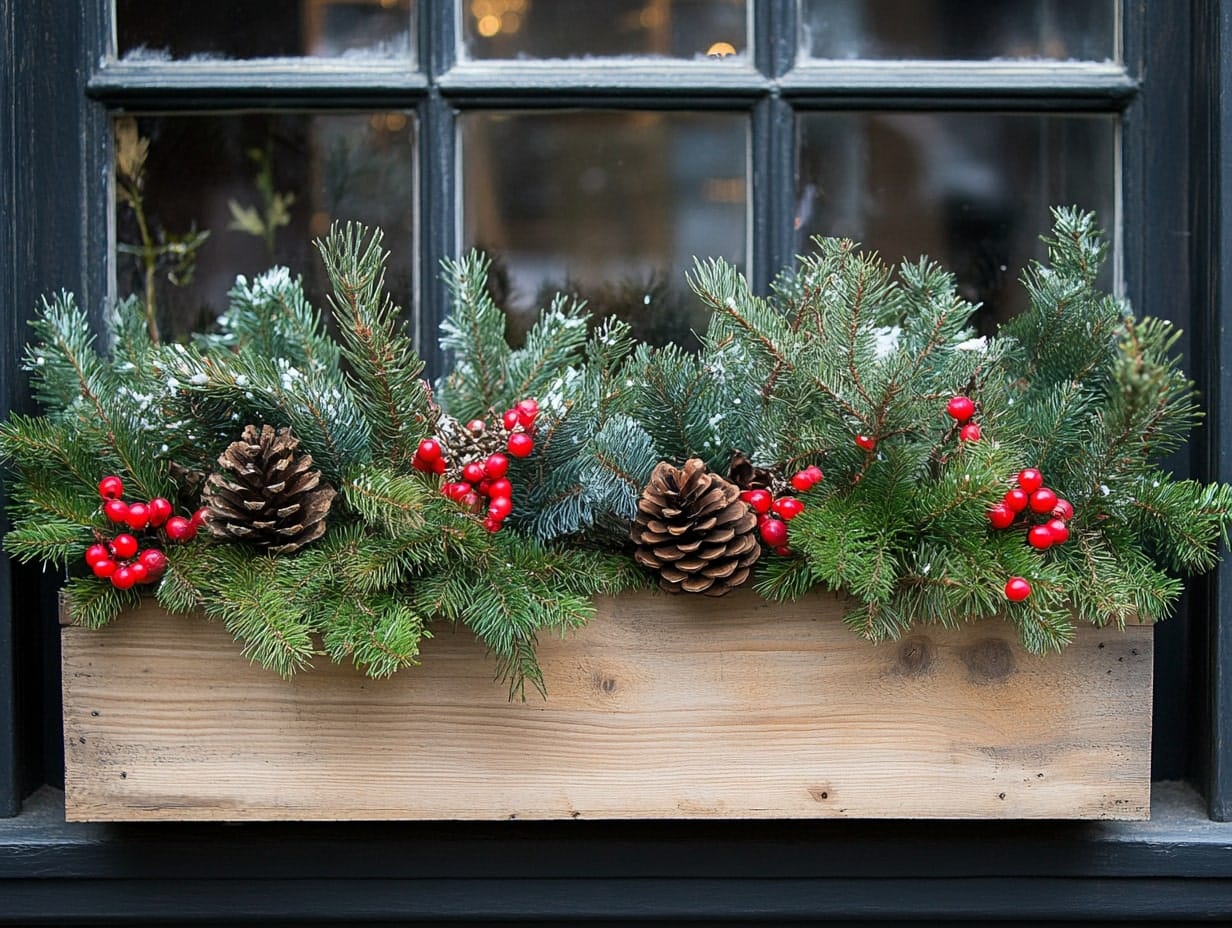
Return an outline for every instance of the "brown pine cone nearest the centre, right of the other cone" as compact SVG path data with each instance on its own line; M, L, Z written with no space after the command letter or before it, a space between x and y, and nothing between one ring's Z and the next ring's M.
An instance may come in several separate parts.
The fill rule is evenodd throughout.
M662 589L721 596L749 578L761 555L756 529L739 487L695 457L684 468L655 465L630 537L633 557L659 574Z

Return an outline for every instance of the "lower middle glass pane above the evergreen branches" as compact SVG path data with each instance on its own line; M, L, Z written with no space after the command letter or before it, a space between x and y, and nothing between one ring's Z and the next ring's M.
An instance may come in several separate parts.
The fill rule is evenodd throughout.
M705 327L684 275L694 255L745 261L747 117L473 112L461 122L464 244L493 256L515 339L557 291L654 344L687 344Z

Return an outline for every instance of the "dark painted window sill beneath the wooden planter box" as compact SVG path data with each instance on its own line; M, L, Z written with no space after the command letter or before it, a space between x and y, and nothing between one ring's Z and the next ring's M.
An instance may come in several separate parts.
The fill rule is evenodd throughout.
M1141 823L83 826L43 789L0 821L0 922L1232 916L1232 823L1152 799Z

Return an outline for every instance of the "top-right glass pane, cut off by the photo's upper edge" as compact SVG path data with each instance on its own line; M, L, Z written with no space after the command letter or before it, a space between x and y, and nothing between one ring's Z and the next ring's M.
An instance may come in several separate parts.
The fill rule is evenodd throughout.
M801 0L812 58L1116 57L1116 0Z

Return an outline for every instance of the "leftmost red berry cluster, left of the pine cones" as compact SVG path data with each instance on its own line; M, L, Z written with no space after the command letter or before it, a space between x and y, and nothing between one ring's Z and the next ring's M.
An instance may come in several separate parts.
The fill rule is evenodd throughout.
M163 497L155 497L148 503L126 503L124 482L120 477L103 477L99 481L99 495L102 497L102 513L108 521L123 525L113 539L99 541L85 550L85 562L95 577L110 579L117 589L129 589L142 583L155 583L166 569L166 555L158 547L142 542L133 532L161 530L168 541L191 541L205 519L206 510L198 509L191 518L172 515L171 503Z

